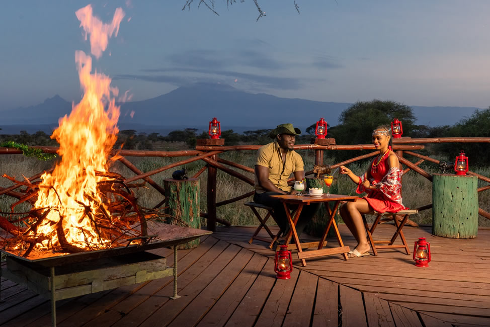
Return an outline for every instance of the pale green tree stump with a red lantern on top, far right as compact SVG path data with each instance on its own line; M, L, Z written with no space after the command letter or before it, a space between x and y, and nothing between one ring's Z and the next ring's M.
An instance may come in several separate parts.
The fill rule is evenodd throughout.
M478 232L476 176L434 174L432 233L451 238L473 238Z

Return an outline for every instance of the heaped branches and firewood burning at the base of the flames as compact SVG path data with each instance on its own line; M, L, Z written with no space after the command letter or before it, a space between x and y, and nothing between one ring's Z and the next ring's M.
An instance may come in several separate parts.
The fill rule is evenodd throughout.
M138 205L133 189L144 187L145 183L130 184L120 174L96 172L96 176L101 177L101 181L97 183L97 191L102 205L93 201L94 194L84 193L87 199L85 203L74 200L77 206L75 209L80 212L77 220L89 218L90 223L77 228L77 232L84 235L85 241L73 242L66 235L65 222L68 217L63 215L64 210L60 207L58 190L53 186L41 186L39 182L32 182L39 176L18 181L3 175L14 185L0 189L0 194L12 196L18 201L11 205L11 212L0 212L0 228L5 230L3 235L0 233L0 248L19 256L27 258L32 256L33 251L36 252L35 256L41 257L43 253L72 254L148 242L156 235L148 235L147 220L161 220L168 216L161 208L144 208ZM35 208L34 204L42 188L50 188L55 192L59 203ZM32 209L15 212L16 207L23 203L28 203ZM56 218L53 219L53 216ZM39 226L46 223L52 227L52 231L40 232ZM89 237L89 229L95 231L95 239Z

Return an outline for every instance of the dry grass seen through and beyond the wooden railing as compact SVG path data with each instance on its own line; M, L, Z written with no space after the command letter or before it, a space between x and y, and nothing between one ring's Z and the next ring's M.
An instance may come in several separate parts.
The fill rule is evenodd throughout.
M170 143L169 146L163 147L162 149L181 149L182 144ZM299 151L303 156L305 161L305 170L311 170L314 163L314 152L313 151ZM354 155L358 155L356 152ZM220 154L220 157L230 161L238 162L241 165L253 167L256 160L256 151L235 151L235 152L225 152ZM169 165L169 163L176 162L182 158L142 158L142 157L128 157L128 159L134 163L134 165L142 172L148 172L159 167ZM328 153L325 155L325 163L329 162ZM14 176L17 179L22 179L22 175L26 177L33 176L42 172L43 170L52 167L53 161L45 162L39 161L34 158L27 158L23 155L0 155L0 171L2 174L7 174L9 176ZM194 161L186 165L188 170L188 175L194 175L199 169L204 165L203 161ZM364 160L360 163L351 163L349 168L357 175L361 175L366 171L369 165L368 160ZM176 167L168 171L153 175L151 178L159 185L163 185L163 180L172 177L172 172L175 170L182 169L182 167ZM435 165L424 167L424 169L429 172L439 173L439 170ZM481 174L483 176L490 175L490 167L485 168L471 168L472 171ZM129 171L120 162L116 162L111 168L112 171L120 173L124 176L130 177L134 176L134 173ZM254 178L253 174L239 171L240 173ZM331 187L331 193L338 194L355 194L355 185L345 176L340 176L338 173L334 176L334 184ZM200 188L201 188L201 211L206 212L206 183L207 174L203 173L200 176ZM417 208L432 202L432 183L421 175L415 172L409 172L403 176L403 204L411 207ZM484 182L479 182L479 187L485 185ZM7 179L0 179L0 186L7 187L12 185ZM230 198L237 197L244 193L248 193L253 190L253 187L225 174L218 170L217 177L217 196L216 201L220 202ZM163 196L155 191L152 187L144 187L135 191L138 197L138 202L144 207L153 207L155 204L159 203ZM480 192L478 194L479 206L490 211L490 191ZM246 201L252 201L252 197L243 199L232 204L225 206L220 206L217 209L217 216L219 218L229 221L232 225L256 225L257 221L251 210L243 205ZM15 202L15 200L8 196L0 196L0 209L1 211L9 211L10 205ZM28 208L19 208L22 210ZM272 220L272 219L271 219ZM432 222L432 210L424 210L414 220L420 224L431 224ZM203 221L206 224L206 221ZM480 226L490 226L490 220L479 217L478 224Z

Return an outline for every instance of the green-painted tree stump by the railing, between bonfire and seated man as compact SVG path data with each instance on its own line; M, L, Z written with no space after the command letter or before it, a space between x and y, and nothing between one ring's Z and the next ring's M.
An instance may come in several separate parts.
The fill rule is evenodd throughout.
M201 209L199 206L199 180L164 180L167 208L165 213L170 215L166 222L191 228L201 228ZM194 239L177 246L179 250L193 249L200 243L200 239Z

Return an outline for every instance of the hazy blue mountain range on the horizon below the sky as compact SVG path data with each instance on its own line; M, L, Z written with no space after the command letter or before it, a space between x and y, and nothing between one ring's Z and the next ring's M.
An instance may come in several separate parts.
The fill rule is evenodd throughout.
M231 128L239 133L250 129L273 128L284 122L292 122L304 129L320 117L335 126L339 122L340 113L352 104L278 98L247 93L229 85L201 83L180 87L156 98L120 105L120 129L166 135L169 131L184 127L206 130L213 117L218 118L223 130ZM440 126L452 125L479 108L412 106L412 109L418 124ZM3 130L0 133L9 134L7 130L18 128L30 132L41 125L45 126L37 130L47 129L45 131L49 132L53 126L57 126L58 119L70 111L71 103L58 95L36 106L4 110L0 112L3 115L0 122Z

